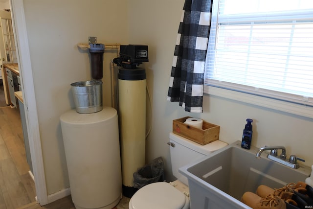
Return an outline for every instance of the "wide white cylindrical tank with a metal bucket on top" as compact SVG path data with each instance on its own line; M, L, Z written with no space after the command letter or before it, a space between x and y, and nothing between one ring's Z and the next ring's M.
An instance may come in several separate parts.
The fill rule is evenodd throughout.
M75 208L112 209L122 195L117 111L70 110L60 120Z

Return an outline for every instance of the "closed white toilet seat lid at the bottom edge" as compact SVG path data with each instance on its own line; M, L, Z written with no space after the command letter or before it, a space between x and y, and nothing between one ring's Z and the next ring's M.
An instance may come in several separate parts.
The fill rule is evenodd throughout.
M169 183L157 182L140 188L129 209L188 209L189 198Z

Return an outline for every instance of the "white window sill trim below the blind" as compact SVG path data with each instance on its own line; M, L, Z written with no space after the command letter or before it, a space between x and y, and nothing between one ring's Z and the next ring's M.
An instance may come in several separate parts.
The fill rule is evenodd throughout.
M226 89L221 89L212 86L204 85L203 93L224 97L227 99L232 99L240 102L245 102L252 105L257 105L277 111L282 111L298 116L304 116L313 118L313 107L308 107L304 105L294 104L285 101L279 101L276 99L265 98L262 96L241 93Z

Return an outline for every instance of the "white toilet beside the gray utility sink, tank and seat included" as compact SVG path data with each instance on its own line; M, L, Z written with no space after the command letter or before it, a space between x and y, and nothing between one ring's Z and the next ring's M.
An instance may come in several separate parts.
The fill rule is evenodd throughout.
M179 173L179 168L227 145L220 140L201 145L174 133L170 133L168 144L177 180L143 186L130 199L129 209L190 209L188 180Z

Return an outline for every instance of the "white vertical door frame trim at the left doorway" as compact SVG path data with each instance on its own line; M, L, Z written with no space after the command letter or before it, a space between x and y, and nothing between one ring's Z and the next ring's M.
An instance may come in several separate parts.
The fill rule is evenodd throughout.
M22 96L37 202L40 205L46 205L48 204L48 195L23 0L10 0L10 8L16 40L18 64L21 69Z

